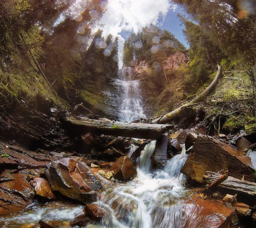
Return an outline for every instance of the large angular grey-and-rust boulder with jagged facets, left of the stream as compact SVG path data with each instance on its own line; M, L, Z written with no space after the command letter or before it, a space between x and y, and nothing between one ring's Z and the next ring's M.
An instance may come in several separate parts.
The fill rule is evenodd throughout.
M44 174L54 191L83 203L96 201L101 188L99 179L91 169L84 162L72 158L53 161Z

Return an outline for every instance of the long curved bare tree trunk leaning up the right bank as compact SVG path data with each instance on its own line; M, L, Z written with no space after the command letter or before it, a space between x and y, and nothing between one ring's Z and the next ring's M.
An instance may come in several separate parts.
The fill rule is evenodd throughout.
M154 119L152 121L152 123L164 124L164 123L170 122L174 118L179 117L180 115L184 115L184 113L186 112L186 109L188 109L192 104L203 100L204 98L206 98L208 95L210 95L213 92L213 90L217 86L219 79L221 78L221 75L222 75L222 67L220 64L218 64L218 72L217 72L214 80L201 94L197 95L192 101L180 106L179 108L169 112L168 114L166 114L162 117L159 117L157 119Z

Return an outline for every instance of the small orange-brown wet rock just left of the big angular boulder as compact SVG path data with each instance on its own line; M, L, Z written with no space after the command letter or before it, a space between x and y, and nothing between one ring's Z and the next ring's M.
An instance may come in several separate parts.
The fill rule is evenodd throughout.
M37 195L40 195L41 197L47 198L49 200L57 198L55 194L52 192L52 188L48 180L44 178L35 178L32 181L32 183Z

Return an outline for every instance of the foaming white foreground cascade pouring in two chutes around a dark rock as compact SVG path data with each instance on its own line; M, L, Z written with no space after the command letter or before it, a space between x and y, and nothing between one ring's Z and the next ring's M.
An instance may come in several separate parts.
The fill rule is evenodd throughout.
M107 215L101 221L104 227L178 228L195 219L196 206L187 200L184 177L179 175L187 158L185 145L164 169L151 170L155 143L151 141L141 152L135 179L101 194L98 203Z

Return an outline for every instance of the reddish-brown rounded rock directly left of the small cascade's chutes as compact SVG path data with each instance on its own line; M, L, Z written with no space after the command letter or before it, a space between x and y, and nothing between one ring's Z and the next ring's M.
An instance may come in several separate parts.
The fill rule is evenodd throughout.
M110 170L114 171L114 178L117 180L127 180L137 175L137 170L134 168L131 159L127 156L118 158Z

